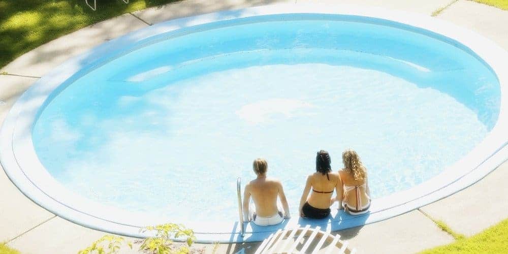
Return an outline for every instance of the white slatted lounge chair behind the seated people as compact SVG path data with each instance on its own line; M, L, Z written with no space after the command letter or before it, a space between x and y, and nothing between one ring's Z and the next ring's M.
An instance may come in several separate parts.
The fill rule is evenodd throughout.
M308 238L306 238L308 237ZM303 242L302 242L303 240ZM325 242L329 243L325 245ZM299 247L301 246L301 247ZM312 246L312 248L309 248ZM323 247L324 246L324 247ZM300 249L297 249L300 248ZM347 241L341 241L340 235L321 231L320 227L311 229L310 225L294 229L279 229L266 238L255 254L268 253L346 253L354 254L356 249L350 249Z

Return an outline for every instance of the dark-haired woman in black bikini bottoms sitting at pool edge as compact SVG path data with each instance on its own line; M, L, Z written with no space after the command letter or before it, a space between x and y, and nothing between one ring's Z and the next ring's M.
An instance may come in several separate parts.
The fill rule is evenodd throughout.
M330 155L321 150L316 155L316 172L307 177L300 199L300 216L322 219L330 214L333 190L342 196L339 174L332 172ZM310 193L310 196L309 196Z

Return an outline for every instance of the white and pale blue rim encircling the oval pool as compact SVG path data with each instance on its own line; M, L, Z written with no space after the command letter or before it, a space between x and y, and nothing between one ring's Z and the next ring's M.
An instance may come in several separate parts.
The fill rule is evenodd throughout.
M216 27L266 20L333 18L374 23L410 30L454 45L485 62L497 76L501 90L497 122L487 137L466 156L439 175L415 187L372 201L371 212L350 216L332 209L326 220L293 218L282 225L256 227L246 224L242 237L238 222L161 221L161 218L130 213L71 194L39 161L32 130L42 109L75 80L102 63L158 41ZM447 197L482 179L508 158L508 52L469 30L435 18L413 13L348 5L274 5L181 18L156 24L104 43L72 58L31 86L13 106L0 132L0 163L21 192L52 213L79 225L105 232L143 237L140 227L166 222L183 223L196 232L198 242L260 241L282 227L310 224L331 231L384 220ZM234 179L232 180L234 181ZM243 180L245 183L245 179ZM231 189L231 192L235 192Z

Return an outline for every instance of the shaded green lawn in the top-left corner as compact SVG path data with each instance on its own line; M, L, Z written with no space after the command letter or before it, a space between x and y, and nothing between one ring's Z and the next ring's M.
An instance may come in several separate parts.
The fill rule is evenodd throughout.
M42 44L87 25L176 1L131 0L128 5L119 0L97 1L94 12L84 0L0 0L0 68Z

